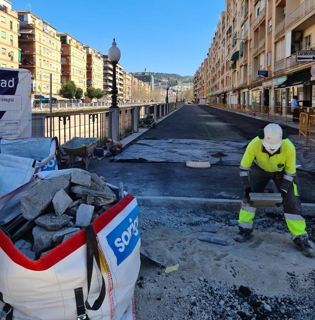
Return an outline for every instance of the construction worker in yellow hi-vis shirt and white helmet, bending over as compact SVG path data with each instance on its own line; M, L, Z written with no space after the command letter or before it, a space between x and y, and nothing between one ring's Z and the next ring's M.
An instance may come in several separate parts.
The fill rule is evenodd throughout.
M234 240L245 242L251 237L256 208L252 206L250 192L264 192L268 181L273 179L283 198L278 206L284 207L284 219L293 242L303 255L315 256L301 216L295 163L295 147L287 139L285 129L270 123L258 130L258 136L248 144L239 166L244 196L239 211L239 233Z

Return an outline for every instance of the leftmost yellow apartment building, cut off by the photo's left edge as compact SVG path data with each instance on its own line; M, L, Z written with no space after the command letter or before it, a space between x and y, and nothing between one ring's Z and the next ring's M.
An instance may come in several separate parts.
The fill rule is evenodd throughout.
M17 69L21 58L18 47L19 21L11 2L0 0L0 16L0 67Z

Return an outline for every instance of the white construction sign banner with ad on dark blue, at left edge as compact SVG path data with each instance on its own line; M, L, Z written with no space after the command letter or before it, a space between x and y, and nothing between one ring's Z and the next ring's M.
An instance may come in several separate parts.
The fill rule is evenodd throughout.
M0 138L31 137L31 72L0 69Z

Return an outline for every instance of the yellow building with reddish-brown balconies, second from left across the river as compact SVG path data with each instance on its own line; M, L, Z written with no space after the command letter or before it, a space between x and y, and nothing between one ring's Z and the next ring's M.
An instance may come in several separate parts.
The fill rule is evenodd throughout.
M31 72L31 91L49 94L51 74L52 93L58 94L61 88L61 43L56 29L29 11L17 11L17 14L20 20L20 67Z

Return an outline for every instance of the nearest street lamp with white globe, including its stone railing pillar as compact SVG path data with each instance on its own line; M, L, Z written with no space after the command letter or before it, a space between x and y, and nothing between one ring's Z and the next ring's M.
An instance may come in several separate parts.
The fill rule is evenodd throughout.
M120 59L120 50L117 47L117 44L114 41L112 42L112 46L108 49L108 59L110 60L110 63L112 64L113 69L113 75L112 75L112 89L110 91L111 93L111 106L110 106L110 112L112 117L112 123L111 123L111 139L119 141L119 107L117 106L117 95L118 95L118 89L117 89L117 83L116 83L116 65Z

